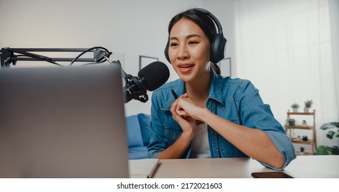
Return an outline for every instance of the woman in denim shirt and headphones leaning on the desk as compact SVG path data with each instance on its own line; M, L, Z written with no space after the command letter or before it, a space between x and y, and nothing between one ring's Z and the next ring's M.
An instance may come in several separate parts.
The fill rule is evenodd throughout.
M282 170L296 155L270 106L263 104L250 81L223 77L210 62L223 58L216 59L212 50L215 36L222 35L220 27L210 12L198 8L177 14L169 23L165 55L179 80L153 92L149 156L250 156L265 167Z

